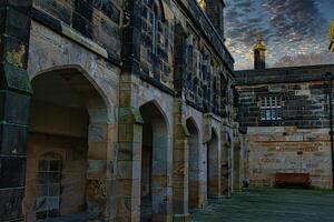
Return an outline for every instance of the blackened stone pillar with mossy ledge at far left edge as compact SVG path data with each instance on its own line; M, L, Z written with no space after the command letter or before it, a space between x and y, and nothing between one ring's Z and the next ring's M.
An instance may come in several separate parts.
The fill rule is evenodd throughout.
M0 221L22 218L30 97L30 0L0 1Z

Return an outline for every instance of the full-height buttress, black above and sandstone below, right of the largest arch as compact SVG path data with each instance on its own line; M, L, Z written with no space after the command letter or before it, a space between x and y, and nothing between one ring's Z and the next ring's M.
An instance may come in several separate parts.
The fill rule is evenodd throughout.
M119 88L116 221L140 221L143 119L137 98L141 44L141 1L127 1L122 22L122 68Z

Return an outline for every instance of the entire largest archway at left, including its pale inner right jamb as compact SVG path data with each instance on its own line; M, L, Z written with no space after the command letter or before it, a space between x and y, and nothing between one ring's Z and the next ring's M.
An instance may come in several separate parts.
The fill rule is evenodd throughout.
M112 198L107 193L111 193L112 182L108 171L114 168L110 164L112 132L108 124L108 105L92 82L75 68L50 70L32 80L35 93L30 108L24 198L30 220L73 214L80 218L78 220L86 220L86 216L109 220L111 216L108 205ZM47 168L42 163L41 157L48 152L61 157L60 189L56 191L46 191L37 180L46 170L53 173L52 159ZM46 180L49 182L42 185L52 186L52 176ZM57 198L48 209L46 205L52 205L46 202L50 192L56 192Z

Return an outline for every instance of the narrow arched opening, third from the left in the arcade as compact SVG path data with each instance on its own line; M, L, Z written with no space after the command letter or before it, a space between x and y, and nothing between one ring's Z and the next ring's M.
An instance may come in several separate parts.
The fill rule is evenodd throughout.
M188 206L195 209L199 206L199 133L193 119L187 119L186 125L190 133L188 138Z

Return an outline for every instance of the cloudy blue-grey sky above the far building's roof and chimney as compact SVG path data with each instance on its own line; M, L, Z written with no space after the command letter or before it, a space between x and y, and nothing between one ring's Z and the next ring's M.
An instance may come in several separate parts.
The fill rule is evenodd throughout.
M267 48L267 65L279 67L283 57L317 54L311 63L332 62L328 24L334 0L225 0L226 44L236 69L253 69L256 34ZM296 64L297 65L297 64Z

